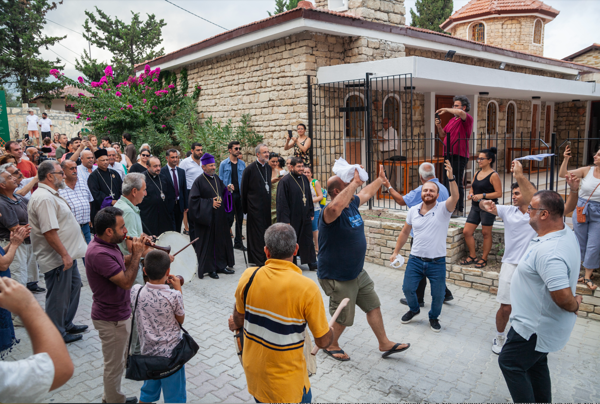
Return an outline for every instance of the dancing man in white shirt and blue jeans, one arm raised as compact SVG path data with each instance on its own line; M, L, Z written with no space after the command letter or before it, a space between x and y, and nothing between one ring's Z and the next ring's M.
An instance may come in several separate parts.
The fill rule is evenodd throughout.
M437 198L440 192L438 185L432 181L423 184L421 191L423 202L408 211L406 224L398 236L396 248L390 257L391 262L396 260L396 256L406 244L410 232L413 230L413 245L402 285L402 291L410 310L402 316L402 324L410 323L421 312L417 299L417 288L421 279L426 276L431 284L432 302L429 311L429 325L433 332L441 330L438 317L442 312L446 292L446 236L450 225L450 216L458 202L458 186L448 160L446 160L445 167L450 182L450 198L445 202L438 202Z

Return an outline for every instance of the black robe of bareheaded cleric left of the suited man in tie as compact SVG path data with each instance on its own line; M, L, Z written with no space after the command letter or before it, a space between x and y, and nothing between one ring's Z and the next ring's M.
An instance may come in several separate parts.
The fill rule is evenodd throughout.
M146 177L146 196L138 205L144 232L158 237L166 231L175 231L173 211L169 210L169 206L175 204L173 200L170 200L174 196L165 192L167 189L165 179L160 175L150 175L148 171L144 175ZM164 195L165 199L161 195Z

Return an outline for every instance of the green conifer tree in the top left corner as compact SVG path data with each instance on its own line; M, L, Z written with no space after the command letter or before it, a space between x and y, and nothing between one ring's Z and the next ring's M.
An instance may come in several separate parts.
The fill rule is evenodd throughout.
M22 103L61 87L59 82L48 81L48 70L64 65L59 59L40 56L41 49L66 38L42 34L46 13L56 7L56 2L46 0L0 1L0 82L18 88Z

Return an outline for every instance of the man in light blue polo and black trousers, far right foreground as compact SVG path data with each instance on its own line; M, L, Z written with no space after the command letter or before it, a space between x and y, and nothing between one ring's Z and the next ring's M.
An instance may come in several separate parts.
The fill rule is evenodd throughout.
M558 193L537 192L528 211L538 237L512 277L512 328L498 364L515 403L549 403L548 353L562 349L575 326L582 300L575 296L581 254L575 234L563 223Z

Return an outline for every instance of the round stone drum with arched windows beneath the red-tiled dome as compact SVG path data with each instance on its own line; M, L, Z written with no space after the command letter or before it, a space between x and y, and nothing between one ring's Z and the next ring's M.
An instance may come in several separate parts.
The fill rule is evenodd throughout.
M539 20L542 24L541 43L533 42L534 25ZM485 44L502 48L527 52L533 55L544 55L545 21L534 16L488 17L478 21L456 24L451 28L452 36L474 41L473 25L483 23L485 26Z

